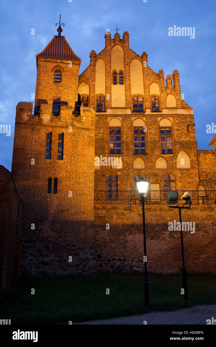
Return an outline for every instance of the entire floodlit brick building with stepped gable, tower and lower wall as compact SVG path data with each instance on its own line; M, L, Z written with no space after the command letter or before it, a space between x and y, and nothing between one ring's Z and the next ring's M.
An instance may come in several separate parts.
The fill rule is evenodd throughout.
M12 175L24 204L21 273L142 271L141 176L149 181L149 270L181 269L179 232L167 229L178 215L165 203L178 190L193 200L183 220L196 222L195 234L184 231L186 267L216 272L216 150L197 150L179 72L165 83L146 52L129 48L128 32L122 39L106 32L105 48L90 52L79 75L81 59L57 31L36 55L34 108L17 105Z

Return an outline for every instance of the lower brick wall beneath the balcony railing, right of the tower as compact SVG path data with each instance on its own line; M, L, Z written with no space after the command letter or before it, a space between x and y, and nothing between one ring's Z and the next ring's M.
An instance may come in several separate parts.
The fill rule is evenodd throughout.
M183 231L185 267L189 272L216 273L216 206L192 205L182 210L182 222L195 222L195 233ZM182 268L178 209L145 206L147 266L150 272L175 273ZM106 229L109 223L110 229ZM193 226L193 224L192 224ZM95 247L101 271L144 271L141 206L95 206Z

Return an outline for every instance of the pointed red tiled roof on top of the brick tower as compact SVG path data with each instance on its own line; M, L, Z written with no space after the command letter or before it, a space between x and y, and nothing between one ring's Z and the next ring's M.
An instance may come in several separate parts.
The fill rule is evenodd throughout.
M55 35L50 43L44 48L43 52L38 53L36 58L58 58L58 59L70 59L79 60L74 51L69 46L68 42L65 40L64 36Z

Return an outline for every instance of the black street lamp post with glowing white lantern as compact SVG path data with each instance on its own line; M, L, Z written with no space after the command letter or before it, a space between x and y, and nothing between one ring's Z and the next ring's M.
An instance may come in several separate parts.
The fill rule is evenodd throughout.
M144 256L145 256L145 280L144 280L144 291L145 291L145 305L149 305L149 282L147 273L147 256L146 256L146 224L145 224L145 196L148 188L148 182L141 177L137 182L137 188L139 193L142 194L142 222L143 222L143 240L144 240Z

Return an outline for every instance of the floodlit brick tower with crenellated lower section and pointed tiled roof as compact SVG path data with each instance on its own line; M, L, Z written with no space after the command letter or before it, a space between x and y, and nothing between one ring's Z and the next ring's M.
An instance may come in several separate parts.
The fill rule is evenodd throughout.
M12 175L24 202L22 265L30 274L41 270L26 266L29 259L35 265L48 256L44 262L50 265L53 257L53 272L63 260L68 265L71 247L84 254L81 245L93 240L94 111L74 112L81 59L61 36L60 23L57 31L36 55L35 108L19 102L16 112Z

